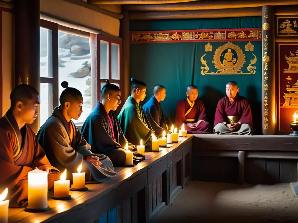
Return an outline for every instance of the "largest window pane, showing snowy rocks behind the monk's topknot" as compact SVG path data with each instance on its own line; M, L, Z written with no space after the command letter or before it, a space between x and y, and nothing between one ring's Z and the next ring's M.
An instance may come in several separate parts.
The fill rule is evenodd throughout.
M59 96L64 90L62 81L69 87L78 89L83 95L83 113L74 123L83 123L90 114L91 108L91 56L89 38L64 32L59 36Z

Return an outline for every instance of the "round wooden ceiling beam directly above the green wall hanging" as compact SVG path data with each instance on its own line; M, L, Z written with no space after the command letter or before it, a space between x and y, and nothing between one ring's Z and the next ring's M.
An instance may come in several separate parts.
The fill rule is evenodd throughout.
M228 18L262 15L260 7L219 10L190 10L165 12L129 12L131 20Z

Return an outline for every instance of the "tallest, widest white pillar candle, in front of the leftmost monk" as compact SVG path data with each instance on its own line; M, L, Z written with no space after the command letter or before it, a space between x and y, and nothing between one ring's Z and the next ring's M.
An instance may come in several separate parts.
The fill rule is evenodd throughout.
M28 172L28 208L48 207L48 173L40 169Z

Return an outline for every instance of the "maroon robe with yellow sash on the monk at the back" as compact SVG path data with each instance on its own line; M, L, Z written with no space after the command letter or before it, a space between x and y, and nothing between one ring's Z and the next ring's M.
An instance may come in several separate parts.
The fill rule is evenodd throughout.
M205 106L204 103L197 99L195 100L195 104L190 112L190 104L187 99L182 99L178 101L176 105L176 125L181 128L182 124L184 123L184 128L190 133L197 134L197 133L211 133L209 128L209 123L206 121L206 113L205 113ZM187 114L188 112L188 114ZM185 115L187 114L187 115ZM198 125L196 128L190 128L186 125L186 123L196 123L199 120L204 120Z

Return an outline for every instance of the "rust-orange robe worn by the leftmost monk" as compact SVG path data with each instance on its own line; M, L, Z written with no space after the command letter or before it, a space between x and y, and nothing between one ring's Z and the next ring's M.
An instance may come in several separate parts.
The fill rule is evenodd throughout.
M28 203L28 172L35 167L50 169L49 188L55 180L60 180L61 173L51 166L32 129L27 125L21 130L18 128L11 110L0 119L0 135L1 189L8 188L5 200L10 199L10 208L24 207Z

